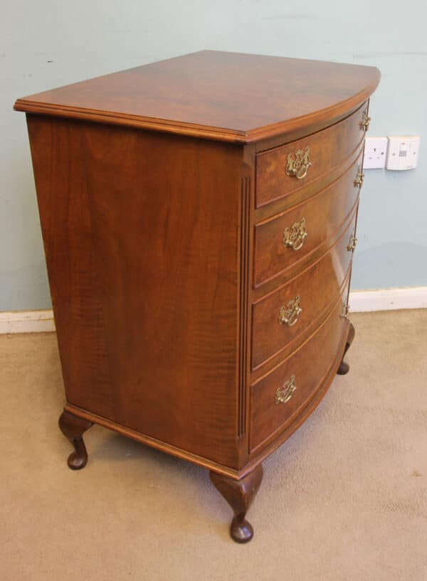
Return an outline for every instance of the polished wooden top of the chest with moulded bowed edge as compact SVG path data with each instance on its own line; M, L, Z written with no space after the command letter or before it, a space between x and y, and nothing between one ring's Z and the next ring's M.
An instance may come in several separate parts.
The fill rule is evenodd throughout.
M31 95L18 111L248 143L338 119L374 67L202 50Z

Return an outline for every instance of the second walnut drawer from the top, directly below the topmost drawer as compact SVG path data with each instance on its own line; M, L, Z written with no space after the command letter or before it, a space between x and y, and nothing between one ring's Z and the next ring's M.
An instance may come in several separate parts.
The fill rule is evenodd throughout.
M333 237L359 194L357 161L330 186L305 202L255 225L253 281L259 287L283 274Z

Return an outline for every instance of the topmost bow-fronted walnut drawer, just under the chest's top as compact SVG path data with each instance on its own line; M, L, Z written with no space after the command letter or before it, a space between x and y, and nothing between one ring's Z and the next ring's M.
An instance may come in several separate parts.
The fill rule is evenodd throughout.
M255 206L288 196L344 163L364 139L367 103L343 121L256 156Z

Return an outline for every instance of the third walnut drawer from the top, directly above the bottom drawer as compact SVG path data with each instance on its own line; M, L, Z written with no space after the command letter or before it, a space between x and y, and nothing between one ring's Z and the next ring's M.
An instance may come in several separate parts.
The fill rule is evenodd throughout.
M314 265L252 306L252 369L283 351L337 302L352 261L356 210L339 240Z

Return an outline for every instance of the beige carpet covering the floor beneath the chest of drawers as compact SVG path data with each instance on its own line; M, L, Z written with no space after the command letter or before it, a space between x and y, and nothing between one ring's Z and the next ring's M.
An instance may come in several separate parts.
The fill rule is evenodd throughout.
M56 336L1 336L1 581L427 581L427 310L352 320L350 373L265 462L248 545L204 469L95 426L70 471Z

